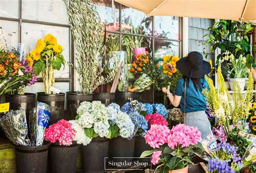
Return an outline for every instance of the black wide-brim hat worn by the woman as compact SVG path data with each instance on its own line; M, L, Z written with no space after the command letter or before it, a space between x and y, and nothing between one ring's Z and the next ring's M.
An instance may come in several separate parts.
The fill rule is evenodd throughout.
M176 66L181 74L190 78L204 78L211 72L211 65L203 60L199 52L190 52L187 57L177 61Z

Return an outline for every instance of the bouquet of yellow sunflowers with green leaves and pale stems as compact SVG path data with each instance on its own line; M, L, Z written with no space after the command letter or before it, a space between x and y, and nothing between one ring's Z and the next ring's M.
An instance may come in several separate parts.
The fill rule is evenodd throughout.
M42 73L45 94L52 94L51 87L55 87L54 70L60 70L65 65L62 55L62 45L52 34L47 34L43 40L38 39L36 48L30 52L28 59L33 61L36 75Z

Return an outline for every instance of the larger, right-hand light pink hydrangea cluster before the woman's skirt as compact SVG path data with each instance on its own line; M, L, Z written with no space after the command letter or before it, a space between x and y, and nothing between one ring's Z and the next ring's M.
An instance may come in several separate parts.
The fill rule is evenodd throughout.
M181 145L181 147L188 147L197 144L201 137L201 132L195 127L187 126L185 124L178 124L172 127L168 136L167 144L171 149Z

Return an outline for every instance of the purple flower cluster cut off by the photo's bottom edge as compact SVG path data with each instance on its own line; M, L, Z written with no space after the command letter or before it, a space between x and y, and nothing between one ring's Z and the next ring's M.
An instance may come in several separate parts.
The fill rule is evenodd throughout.
M227 162L219 160L219 158L211 158L208 160L208 171L211 173L234 173L235 171Z

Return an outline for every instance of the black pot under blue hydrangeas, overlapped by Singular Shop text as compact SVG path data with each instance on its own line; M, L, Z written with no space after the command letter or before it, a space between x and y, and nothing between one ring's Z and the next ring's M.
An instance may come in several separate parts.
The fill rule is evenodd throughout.
M127 140L123 137L115 137L110 140L109 143L109 157L113 162L132 162L133 151L134 151L135 138ZM119 157L119 158L114 158ZM123 157L123 158L121 158ZM130 158L129 158L130 157ZM129 166L122 166L122 169Z

